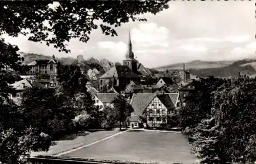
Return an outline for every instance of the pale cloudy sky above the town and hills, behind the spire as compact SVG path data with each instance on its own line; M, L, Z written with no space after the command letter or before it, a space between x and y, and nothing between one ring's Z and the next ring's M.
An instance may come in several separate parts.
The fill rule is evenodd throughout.
M144 14L146 22L129 22L116 28L118 36L94 30L87 43L72 39L71 53L28 41L19 35L4 35L21 52L56 57L83 55L85 59L121 62L127 51L129 29L133 52L146 67L193 60L239 60L256 57L255 4L253 1L170 1L169 9Z

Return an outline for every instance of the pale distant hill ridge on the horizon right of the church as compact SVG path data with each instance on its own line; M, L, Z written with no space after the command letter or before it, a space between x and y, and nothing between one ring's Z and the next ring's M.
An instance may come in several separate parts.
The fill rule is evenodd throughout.
M194 60L185 63L185 69L202 69L202 68L218 68L232 64L234 61L202 61ZM183 63L175 63L164 66L155 67L158 71L165 71L166 69L183 69Z

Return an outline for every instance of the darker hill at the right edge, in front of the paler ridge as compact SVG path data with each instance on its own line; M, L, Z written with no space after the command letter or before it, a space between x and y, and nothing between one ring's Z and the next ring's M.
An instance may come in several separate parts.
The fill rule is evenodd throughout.
M219 68L189 69L189 73L199 77L215 76L215 77L237 77L239 73L246 75L256 74L255 68L252 66L255 59L239 60L232 64ZM255 65L254 65L255 66Z

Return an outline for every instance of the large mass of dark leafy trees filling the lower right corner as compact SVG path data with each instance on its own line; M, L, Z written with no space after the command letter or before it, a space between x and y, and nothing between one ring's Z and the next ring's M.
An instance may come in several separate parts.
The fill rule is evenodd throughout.
M189 138L200 162L255 162L256 79L201 80L203 87L202 81L207 82L211 99L204 101L207 97L197 95L202 90L196 87L195 94L200 97L191 98L194 102L189 102L182 113L183 129L190 127ZM199 103L209 104L206 114ZM192 122L191 116L197 121Z

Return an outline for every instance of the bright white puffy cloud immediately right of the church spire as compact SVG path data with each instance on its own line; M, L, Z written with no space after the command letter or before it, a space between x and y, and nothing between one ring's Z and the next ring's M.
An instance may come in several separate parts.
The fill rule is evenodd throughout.
M159 27L155 22L140 23L138 27L131 30L132 41L136 46L168 46L167 39L169 29Z

